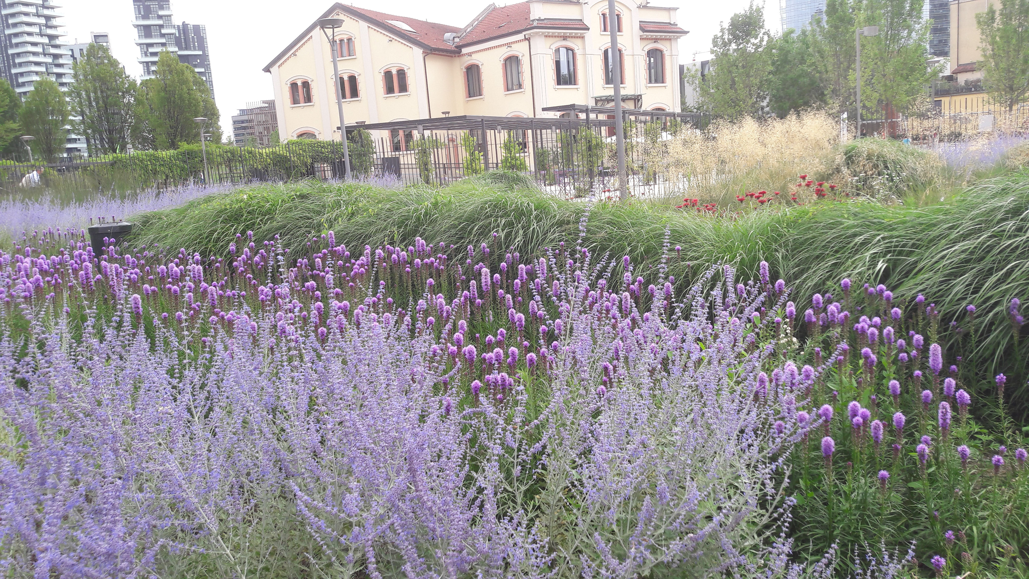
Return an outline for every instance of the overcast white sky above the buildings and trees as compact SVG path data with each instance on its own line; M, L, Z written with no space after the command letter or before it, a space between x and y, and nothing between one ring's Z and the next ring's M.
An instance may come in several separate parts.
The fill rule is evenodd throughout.
M494 0L498 5L511 1ZM678 6L679 25L689 31L679 44L679 62L688 62L694 52L707 50L720 22L747 7L749 0L651 0L659 6ZM402 14L431 22L464 26L490 0L352 0L356 6ZM766 5L766 21L779 27L778 0L755 0ZM130 74L142 68L133 44L132 0L64 0L66 39L85 42L90 32L107 32L111 48ZM172 0L175 22L207 26L211 68L221 125L232 133L230 116L250 101L272 98L271 75L261 69L318 15L331 0Z

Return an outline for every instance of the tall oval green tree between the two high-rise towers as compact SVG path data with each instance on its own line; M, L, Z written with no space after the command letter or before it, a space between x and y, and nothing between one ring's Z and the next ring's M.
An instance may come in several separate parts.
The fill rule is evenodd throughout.
M91 155L125 152L133 124L136 80L101 44L90 44L75 63L69 96L79 117L75 130Z

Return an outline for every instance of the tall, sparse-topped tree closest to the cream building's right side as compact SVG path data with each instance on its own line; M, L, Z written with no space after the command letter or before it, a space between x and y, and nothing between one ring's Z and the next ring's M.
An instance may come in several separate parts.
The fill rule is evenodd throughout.
M704 80L696 75L686 79L697 90L699 108L729 118L765 114L769 37L761 8L753 2L721 26L711 39L711 72Z

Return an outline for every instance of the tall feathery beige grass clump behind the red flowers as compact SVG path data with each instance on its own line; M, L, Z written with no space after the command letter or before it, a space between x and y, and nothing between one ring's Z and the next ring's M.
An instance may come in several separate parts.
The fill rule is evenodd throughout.
M717 121L705 131L680 131L663 171L685 177L691 198L725 206L747 191L789 191L802 173L828 176L839 140L839 123L821 111Z

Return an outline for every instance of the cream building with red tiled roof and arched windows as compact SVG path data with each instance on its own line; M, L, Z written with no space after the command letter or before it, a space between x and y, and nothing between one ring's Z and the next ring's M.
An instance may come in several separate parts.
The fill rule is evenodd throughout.
M347 126L445 115L556 116L613 93L607 0L489 5L463 28L336 3L338 65ZM676 10L618 0L623 95L680 110ZM332 53L312 23L269 65L283 139L340 140ZM404 135L394 139L404 139Z

